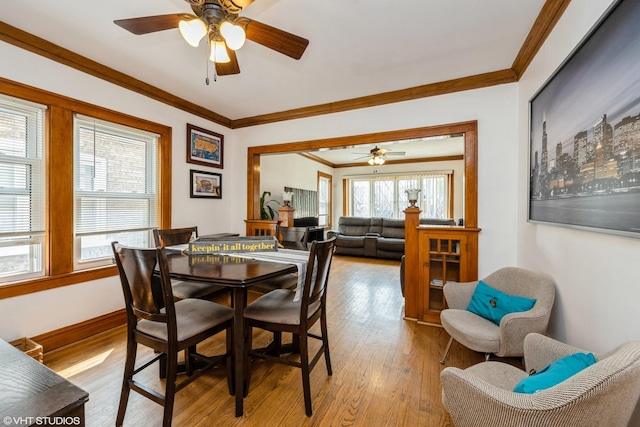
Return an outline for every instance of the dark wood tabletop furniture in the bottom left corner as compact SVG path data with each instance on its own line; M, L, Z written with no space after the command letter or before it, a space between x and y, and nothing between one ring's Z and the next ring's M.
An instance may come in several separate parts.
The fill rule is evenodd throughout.
M89 393L0 340L0 423L84 426Z

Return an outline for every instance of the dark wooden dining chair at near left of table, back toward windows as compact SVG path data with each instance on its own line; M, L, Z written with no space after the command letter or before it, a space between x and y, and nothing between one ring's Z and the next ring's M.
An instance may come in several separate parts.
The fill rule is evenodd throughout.
M175 301L164 248L130 248L111 244L127 312L127 351L116 425L122 426L131 390L164 407L163 426L170 426L176 392L220 361L226 363L233 394L231 351L233 309L196 298ZM226 351L217 357L196 352L203 340L226 331ZM158 353L136 365L138 344ZM178 353L184 350L187 378L177 382ZM134 378L154 362L166 358L164 395ZM195 369L195 362L204 367Z

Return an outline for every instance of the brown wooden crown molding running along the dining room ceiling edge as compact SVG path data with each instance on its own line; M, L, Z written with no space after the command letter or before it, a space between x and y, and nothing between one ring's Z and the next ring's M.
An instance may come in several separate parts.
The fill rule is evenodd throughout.
M538 17L536 18L536 21L531 27L527 38L520 48L513 65L509 69L235 120L203 108L197 104L175 96L141 80L135 79L127 74L114 70L113 68L102 65L82 55L78 55L77 53L53 44L33 34L27 33L26 31L22 31L2 21L0 21L0 40L28 50L37 55L44 56L52 61L56 61L76 70L90 74L99 79L121 86L125 89L147 96L156 101L178 108L187 113L194 114L230 129L237 129L357 110L361 108L376 107L430 96L517 82L524 74L547 36L553 30L570 1L571 0L546 0Z

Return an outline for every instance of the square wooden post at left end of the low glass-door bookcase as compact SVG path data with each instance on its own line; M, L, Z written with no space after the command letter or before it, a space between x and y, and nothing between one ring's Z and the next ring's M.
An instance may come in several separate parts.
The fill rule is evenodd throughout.
M417 207L404 210L404 316L410 319L418 319L419 314L420 212L420 208Z

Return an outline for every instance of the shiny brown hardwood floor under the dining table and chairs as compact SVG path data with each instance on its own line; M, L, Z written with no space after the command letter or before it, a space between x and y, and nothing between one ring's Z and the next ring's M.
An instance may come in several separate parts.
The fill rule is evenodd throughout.
M399 262L335 256L328 287L333 376L324 360L311 372L313 416L307 417L300 370L256 362L243 417L235 417L222 368L177 394L174 426L450 426L441 402L439 360L449 338L441 328L403 320ZM45 364L89 392L88 427L113 426L124 366L125 327L55 350ZM198 347L222 352L224 334ZM270 335L255 333L254 346ZM138 360L150 356L140 346ZM448 366L484 359L453 343ZM513 361L511 361L513 362ZM515 362L517 363L517 361ZM157 369L139 374L162 390ZM131 393L125 426L160 425L162 408Z

